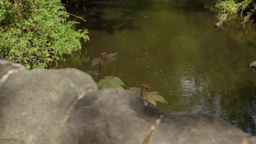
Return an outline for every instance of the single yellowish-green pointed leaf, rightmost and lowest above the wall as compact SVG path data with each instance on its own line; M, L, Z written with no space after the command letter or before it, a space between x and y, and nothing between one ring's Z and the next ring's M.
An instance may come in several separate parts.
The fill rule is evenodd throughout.
M156 101L160 101L161 103L168 104L168 102L164 99L164 97L159 95L158 92L143 93L143 99L147 100L150 104L153 104L154 106L156 106Z

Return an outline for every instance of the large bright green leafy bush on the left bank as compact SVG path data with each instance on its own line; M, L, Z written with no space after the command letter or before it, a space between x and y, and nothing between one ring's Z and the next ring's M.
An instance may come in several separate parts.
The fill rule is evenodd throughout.
M0 55L28 69L63 60L89 40L67 17L60 0L0 1Z

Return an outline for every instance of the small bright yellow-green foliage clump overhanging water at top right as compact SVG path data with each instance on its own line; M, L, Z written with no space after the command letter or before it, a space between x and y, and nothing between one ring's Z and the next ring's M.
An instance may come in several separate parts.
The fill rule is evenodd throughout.
M236 14L237 7L238 5L233 0L221 1L216 4L216 8L218 9L219 13Z

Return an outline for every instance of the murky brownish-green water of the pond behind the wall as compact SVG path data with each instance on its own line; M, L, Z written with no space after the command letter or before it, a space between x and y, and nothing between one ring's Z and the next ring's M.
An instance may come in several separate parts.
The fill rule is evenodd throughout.
M166 112L205 113L256 134L255 26L229 22L216 29L206 9L214 2L175 0L90 1L80 16L90 42L61 67L88 70L83 56L118 52L104 75L127 87L153 83L170 103ZM254 32L251 33L251 32ZM85 55L85 49L87 55Z

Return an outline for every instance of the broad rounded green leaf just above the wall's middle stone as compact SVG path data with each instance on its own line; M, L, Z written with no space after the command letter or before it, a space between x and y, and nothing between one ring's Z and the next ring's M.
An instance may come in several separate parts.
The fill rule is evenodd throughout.
M105 76L98 83L98 89L102 88L123 88L124 82L121 81L118 77Z

